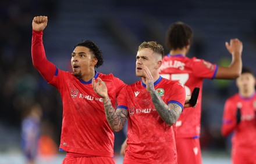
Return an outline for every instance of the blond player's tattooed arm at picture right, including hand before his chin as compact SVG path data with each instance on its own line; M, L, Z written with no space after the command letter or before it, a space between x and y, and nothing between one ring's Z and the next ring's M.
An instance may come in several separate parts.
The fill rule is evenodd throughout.
M165 104L161 97L157 94L154 88L154 78L147 67L143 67L145 78L143 80L146 83L147 90L150 93L151 99L157 109L159 116L169 126L176 123L180 114L182 113L182 107L175 103Z

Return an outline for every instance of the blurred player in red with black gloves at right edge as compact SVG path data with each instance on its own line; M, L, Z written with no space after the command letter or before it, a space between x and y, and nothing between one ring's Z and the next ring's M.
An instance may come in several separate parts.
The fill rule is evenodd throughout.
M232 163L256 163L256 93L255 74L243 68L236 79L239 93L226 100L222 135L232 136Z

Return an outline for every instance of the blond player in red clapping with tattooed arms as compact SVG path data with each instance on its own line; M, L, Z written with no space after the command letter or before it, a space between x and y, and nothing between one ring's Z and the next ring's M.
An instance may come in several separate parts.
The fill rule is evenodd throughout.
M179 82L159 75L163 48L143 42L136 56L136 76L141 80L123 88L115 110L108 89L98 78L93 86L104 102L106 117L115 132L128 118L127 148L123 163L177 163L175 122L183 110L186 91Z

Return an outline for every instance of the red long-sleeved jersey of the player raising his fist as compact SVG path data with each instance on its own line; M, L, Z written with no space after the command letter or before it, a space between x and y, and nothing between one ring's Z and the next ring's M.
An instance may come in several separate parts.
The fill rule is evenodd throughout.
M31 56L34 67L44 79L61 93L63 119L60 148L67 152L88 156L113 156L114 135L105 116L102 99L94 92L91 80L77 79L70 72L61 71L49 62L42 44L42 31L33 31ZM113 107L125 83L112 74L95 71L108 87Z

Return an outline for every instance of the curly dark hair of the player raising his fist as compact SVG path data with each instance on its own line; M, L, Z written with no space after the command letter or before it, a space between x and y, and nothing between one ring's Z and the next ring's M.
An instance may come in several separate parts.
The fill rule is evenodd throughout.
M84 46L90 49L90 52L92 52L95 55L95 57L98 60L97 64L95 65L95 68L98 68L99 66L103 65L104 60L103 60L102 52L93 41L90 41L90 40L81 41L77 45L75 45L74 48L76 48L77 46Z

